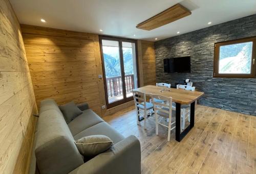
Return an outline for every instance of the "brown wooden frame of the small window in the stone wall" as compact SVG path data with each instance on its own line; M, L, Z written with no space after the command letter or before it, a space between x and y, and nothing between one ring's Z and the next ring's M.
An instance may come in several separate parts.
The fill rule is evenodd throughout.
M252 42L251 73L250 74L219 73L220 46L243 43L243 42ZM215 43L214 45L214 78L255 78L256 76L255 56L256 56L256 37L255 36ZM253 59L254 59L254 64L253 64Z

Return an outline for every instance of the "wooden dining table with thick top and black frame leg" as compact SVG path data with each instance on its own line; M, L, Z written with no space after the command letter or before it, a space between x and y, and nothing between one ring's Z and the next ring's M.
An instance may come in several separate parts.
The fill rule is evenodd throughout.
M195 102L204 94L200 91L190 91L185 89L167 88L161 86L147 85L134 91L143 92L146 95L163 95L166 97L172 97L173 102L176 103L176 140L181 141L186 134L194 127L195 123ZM181 132L181 105L190 104L190 124ZM140 118L138 118L140 121ZM179 125L177 125L179 123Z

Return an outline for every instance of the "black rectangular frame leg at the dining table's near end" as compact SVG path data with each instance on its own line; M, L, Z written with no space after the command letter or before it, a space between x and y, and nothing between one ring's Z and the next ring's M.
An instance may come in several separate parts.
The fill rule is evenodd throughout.
M176 141L181 141L187 133L194 127L195 124L195 102L190 104L190 124L189 126L180 133L181 130L181 105L176 103ZM177 125L177 123L179 125Z

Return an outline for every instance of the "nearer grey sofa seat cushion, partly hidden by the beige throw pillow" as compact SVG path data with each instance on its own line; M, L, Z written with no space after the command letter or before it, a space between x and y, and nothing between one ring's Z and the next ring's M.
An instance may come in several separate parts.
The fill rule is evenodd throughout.
M124 136L119 134L115 129L113 129L108 123L100 122L74 136L75 140L89 135L105 135L110 137L110 139L115 143L124 139Z

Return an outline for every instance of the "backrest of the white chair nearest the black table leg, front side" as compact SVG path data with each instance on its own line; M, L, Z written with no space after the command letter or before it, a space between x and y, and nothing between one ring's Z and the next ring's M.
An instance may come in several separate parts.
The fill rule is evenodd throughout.
M157 113L157 111L164 112L169 115L169 118L172 116L172 97L166 97L162 95L151 95L153 105L154 105L154 111ZM155 100L155 98L164 101L164 103L159 103Z

